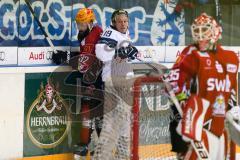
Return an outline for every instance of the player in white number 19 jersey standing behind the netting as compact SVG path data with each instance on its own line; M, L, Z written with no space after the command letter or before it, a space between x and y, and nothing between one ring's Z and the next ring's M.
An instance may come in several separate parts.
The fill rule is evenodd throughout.
M125 98L126 95L130 97L126 78L133 76L133 70L127 61L135 59L138 50L130 44L127 11L114 11L111 21L112 25L103 32L96 45L96 56L104 64L105 97L102 133L94 160L120 160L130 156L131 105Z

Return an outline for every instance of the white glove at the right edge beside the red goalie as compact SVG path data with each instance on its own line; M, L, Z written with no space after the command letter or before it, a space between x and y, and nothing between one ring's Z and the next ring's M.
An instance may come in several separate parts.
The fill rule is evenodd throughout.
M240 146L240 107L232 107L226 113L226 128L231 139Z

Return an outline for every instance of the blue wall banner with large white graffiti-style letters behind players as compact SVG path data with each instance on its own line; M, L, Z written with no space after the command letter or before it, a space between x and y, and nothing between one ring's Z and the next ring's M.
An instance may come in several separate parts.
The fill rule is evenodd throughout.
M55 46L79 45L74 19L83 7L94 10L97 23L103 28L110 25L110 17L115 9L126 9L129 12L130 36L135 45L185 45L184 13L177 14L174 11L177 2L30 0L35 15ZM1 0L0 13L0 46L48 46L24 0Z

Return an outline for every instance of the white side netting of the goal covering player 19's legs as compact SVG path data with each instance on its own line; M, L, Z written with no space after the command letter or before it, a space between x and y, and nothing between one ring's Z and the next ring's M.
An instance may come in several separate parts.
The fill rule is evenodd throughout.
M124 98L124 94L129 94L126 88L126 83L113 85L111 80L105 82L103 127L94 160L125 160L130 157L132 107Z

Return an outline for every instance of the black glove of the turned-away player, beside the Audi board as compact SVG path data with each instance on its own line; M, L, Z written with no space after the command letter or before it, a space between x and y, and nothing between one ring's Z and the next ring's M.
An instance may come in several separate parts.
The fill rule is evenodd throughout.
M76 56L78 52L70 52L70 51L62 51L62 50L56 50L52 55L52 60L55 64L72 64L70 63L70 59L74 56ZM76 63L77 64L77 63Z

